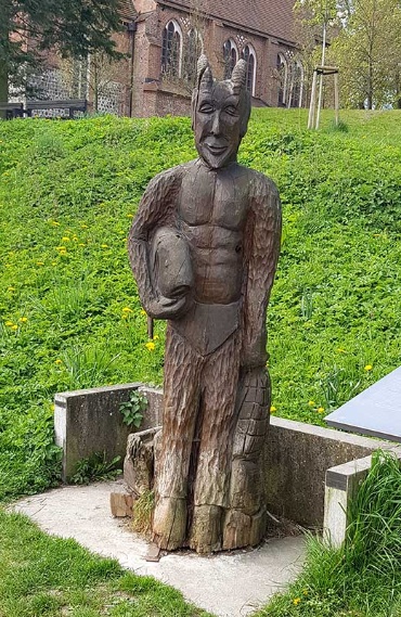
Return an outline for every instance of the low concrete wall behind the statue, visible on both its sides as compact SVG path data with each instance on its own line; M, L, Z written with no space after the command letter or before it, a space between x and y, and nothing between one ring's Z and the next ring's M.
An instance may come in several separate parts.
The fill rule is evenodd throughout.
M125 455L132 427L122 423L119 404L129 399L133 389L142 390L148 400L140 430L161 424L160 389L125 384L55 396L55 435L56 444L63 448L64 481L74 474L77 462L93 452L105 451L109 460ZM326 471L365 458L378 448L387 450L393 445L272 416L264 449L269 511L306 527L322 528ZM335 474L334 471L328 478L335 478ZM341 472L337 483L344 481Z

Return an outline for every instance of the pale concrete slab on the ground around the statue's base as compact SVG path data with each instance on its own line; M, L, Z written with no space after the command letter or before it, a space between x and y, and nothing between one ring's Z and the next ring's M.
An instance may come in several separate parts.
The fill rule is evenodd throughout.
M114 557L138 575L150 575L179 589L184 597L218 617L249 615L299 571L302 537L268 540L254 551L203 557L191 552L146 562L147 543L124 519L113 518L109 493L117 483L68 486L24 499L13 505L44 531L74 538L103 556Z

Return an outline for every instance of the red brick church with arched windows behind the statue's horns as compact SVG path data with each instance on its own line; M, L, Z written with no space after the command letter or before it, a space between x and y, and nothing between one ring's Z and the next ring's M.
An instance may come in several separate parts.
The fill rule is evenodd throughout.
M50 99L87 98L101 112L146 117L190 112L196 61L218 78L247 61L253 104L302 106L303 69L293 37L294 0L124 0L118 63L56 61L38 78ZM93 86L95 85L95 86Z

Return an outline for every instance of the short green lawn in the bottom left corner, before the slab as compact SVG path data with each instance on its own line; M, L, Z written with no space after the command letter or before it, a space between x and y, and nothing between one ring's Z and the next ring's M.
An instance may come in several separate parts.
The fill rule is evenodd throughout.
M208 617L181 593L0 509L2 617ZM209 617L211 617L209 615Z

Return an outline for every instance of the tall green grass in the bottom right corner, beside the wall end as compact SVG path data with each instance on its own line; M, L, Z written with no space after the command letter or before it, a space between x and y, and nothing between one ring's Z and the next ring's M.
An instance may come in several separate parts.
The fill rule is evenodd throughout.
M255 617L399 617L401 615L401 471L377 452L351 505L341 549L310 538L305 568Z

